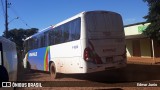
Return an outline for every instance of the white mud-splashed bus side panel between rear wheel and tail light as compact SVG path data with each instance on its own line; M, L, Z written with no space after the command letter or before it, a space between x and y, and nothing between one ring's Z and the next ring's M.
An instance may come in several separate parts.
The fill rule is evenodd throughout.
M51 60L60 73L82 73L81 40L71 41L50 47Z

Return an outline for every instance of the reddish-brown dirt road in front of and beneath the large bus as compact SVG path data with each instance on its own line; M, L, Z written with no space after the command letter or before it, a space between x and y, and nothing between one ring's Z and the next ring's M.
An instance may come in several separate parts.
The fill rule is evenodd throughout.
M160 65L128 64L126 68L91 74L58 74L54 81L49 73L21 72L18 81L39 81L43 88L16 88L16 90L158 90L160 89ZM45 82L43 82L45 81ZM47 81L47 82L46 82ZM156 87L141 87L137 83L155 83ZM159 86L159 87L158 87Z

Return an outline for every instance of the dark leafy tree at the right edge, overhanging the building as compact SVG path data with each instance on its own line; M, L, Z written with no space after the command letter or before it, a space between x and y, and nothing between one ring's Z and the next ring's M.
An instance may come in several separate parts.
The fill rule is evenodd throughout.
M143 0L149 7L148 15L144 18L151 24L143 34L160 43L160 0Z

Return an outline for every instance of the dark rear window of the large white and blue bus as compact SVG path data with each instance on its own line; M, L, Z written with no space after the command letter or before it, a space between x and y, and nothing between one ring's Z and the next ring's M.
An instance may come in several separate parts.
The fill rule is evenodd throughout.
M92 12L86 14L87 30L90 32L122 31L121 16L116 13Z

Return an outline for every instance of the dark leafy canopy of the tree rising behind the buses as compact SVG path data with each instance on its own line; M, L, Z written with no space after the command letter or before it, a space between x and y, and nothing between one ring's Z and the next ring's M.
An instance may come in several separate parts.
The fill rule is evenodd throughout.
M17 46L17 51L23 50L23 42L24 40L37 33L38 29L37 28L31 28L31 29L11 29L8 31L8 39L16 43ZM5 32L3 33L2 36L5 36Z

